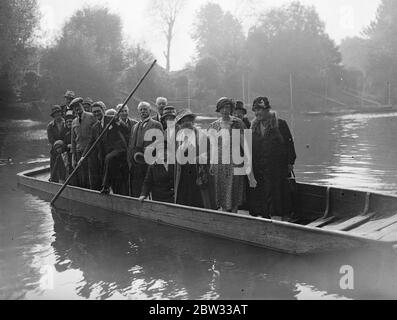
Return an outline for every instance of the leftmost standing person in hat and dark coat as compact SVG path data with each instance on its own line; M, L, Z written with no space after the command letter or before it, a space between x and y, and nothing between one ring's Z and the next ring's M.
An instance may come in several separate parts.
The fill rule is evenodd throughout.
M48 126L47 126L47 137L48 137L48 142L51 145L51 151L50 151L50 181L52 182L59 182L59 175L54 172L55 170L55 161L57 158L57 153L55 152L54 145L55 142L59 140L64 140L65 135L66 135L66 127L65 127L65 121L62 117L62 108L58 105L55 105L51 109L51 117L54 119L51 121ZM57 181L58 180L58 181Z

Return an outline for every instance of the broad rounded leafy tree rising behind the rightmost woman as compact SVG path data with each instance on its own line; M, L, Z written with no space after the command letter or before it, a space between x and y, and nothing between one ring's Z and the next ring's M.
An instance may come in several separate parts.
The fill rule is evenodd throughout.
M284 106L291 74L295 89L322 94L341 78L340 52L313 6L292 2L265 12L250 29L247 48L253 89L288 97L280 101Z

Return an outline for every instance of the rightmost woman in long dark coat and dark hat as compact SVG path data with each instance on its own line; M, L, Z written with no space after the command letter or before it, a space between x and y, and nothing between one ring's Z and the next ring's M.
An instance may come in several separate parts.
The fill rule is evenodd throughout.
M254 111L252 164L258 185L249 190L250 214L283 217L289 208L286 180L296 159L292 135L287 123L271 111L267 98L256 99Z

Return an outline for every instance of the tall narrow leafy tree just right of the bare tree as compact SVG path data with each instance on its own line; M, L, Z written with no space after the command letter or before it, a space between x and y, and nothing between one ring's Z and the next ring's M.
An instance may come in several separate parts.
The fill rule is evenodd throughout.
M198 53L198 93L212 101L216 96L240 98L246 44L241 23L218 4L208 3L197 13L192 37Z

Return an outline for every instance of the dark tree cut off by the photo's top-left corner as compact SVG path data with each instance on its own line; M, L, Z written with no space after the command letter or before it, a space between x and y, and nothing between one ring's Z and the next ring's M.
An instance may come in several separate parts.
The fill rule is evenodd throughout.
M37 0L0 1L1 99L12 95L20 71L29 60L38 16Z

